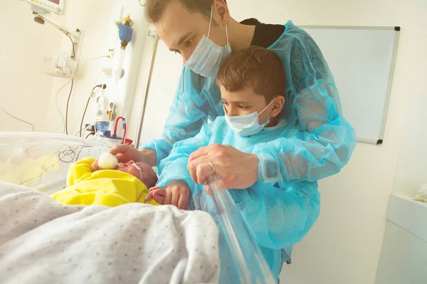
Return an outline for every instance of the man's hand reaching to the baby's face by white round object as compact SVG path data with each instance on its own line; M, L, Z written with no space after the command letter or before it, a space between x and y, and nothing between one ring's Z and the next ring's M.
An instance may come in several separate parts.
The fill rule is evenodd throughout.
M137 148L133 148L129 145L116 145L112 147L109 152L112 155L115 155L117 160L119 160L119 163L127 163L130 160L134 160L135 163L142 162L152 167L156 165L156 151L149 149L142 149L139 151ZM97 160L93 162L92 168L94 170L99 168L97 165Z

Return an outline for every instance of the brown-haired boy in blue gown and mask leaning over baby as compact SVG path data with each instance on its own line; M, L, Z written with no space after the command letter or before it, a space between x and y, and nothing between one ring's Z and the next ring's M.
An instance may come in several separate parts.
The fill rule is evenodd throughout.
M177 203L185 208L190 203L190 192L192 197L200 193L201 187L191 180L187 163L191 153L201 147L218 143L254 153L256 148L263 148L277 137L304 140L306 135L311 135L288 124L283 117L285 70L273 51L251 47L233 53L221 65L216 80L226 116L206 124L194 138L175 143L171 154L162 160L159 188L153 193L166 196L164 204ZM288 151L297 153L298 149ZM283 153L264 155L268 160ZM221 165L206 161L197 170L212 174L216 172L215 166ZM283 169L263 170L260 166L260 170L271 173ZM263 180L246 190L230 190L230 193L253 231L273 276L278 279L282 263L290 259L289 251L285 256L283 249L300 241L315 223L320 211L320 195L317 182L283 179L272 182L268 176Z

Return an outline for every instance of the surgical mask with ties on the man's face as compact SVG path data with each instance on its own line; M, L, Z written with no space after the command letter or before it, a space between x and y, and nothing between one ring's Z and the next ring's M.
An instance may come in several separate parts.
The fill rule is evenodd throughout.
M221 63L231 55L231 46L228 43L228 31L226 26L226 46L218 46L209 39L212 26L212 14L214 6L211 9L211 21L209 22L208 37L203 35L196 49L191 54L189 60L185 63L187 67L204 77L216 77Z

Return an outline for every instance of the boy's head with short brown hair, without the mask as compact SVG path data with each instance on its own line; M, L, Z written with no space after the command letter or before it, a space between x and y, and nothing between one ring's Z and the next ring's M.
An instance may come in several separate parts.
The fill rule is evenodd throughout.
M285 104L285 68L273 51L257 46L239 50L218 70L216 82L221 89L227 116L259 114L259 123L278 123Z

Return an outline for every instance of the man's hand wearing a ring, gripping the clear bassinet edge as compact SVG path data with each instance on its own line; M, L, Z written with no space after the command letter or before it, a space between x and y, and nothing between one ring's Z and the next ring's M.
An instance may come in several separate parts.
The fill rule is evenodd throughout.
M195 183L204 185L216 173L227 189L245 190L258 181L258 156L232 146L213 144L190 155L187 169Z

